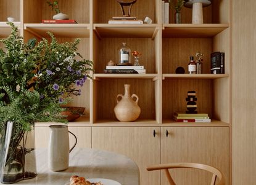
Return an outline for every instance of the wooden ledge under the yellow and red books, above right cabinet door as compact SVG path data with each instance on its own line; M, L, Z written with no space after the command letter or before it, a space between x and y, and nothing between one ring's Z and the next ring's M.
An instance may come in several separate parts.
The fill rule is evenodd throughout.
M173 119L163 119L164 126L172 127L229 127L229 124L220 120L212 119L212 122L176 122Z

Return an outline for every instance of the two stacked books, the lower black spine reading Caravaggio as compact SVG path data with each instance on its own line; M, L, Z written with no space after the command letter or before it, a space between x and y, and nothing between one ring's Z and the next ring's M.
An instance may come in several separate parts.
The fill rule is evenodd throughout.
M144 66L106 66L104 73L145 74Z

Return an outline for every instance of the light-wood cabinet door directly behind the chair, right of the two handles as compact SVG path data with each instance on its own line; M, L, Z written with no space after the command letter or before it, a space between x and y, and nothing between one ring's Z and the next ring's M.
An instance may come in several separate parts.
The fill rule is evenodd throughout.
M168 136L166 131L168 130ZM229 183L228 127L162 127L161 163L194 162L218 168ZM195 169L170 170L176 184L210 184L212 174ZM161 185L167 185L161 173Z

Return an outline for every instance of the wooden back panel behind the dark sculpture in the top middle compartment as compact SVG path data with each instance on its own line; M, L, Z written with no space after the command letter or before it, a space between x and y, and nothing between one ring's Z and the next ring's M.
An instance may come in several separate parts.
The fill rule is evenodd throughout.
M112 17L122 16L122 10L117 1L95 1L97 1L97 7L95 9L97 12L97 19L94 20L96 21L94 23L107 23L109 19L112 19ZM135 4L133 4L131 16L135 16L137 19L141 20L144 20L144 18L148 16L152 19L153 23L156 23L155 9L157 6L155 6L155 3L156 1L152 0L137 1ZM125 14L128 14L127 9L125 9Z

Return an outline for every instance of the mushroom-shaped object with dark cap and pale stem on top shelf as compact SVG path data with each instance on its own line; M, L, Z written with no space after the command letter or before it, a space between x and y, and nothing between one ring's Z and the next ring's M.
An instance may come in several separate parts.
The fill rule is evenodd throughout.
M185 7L192 8L192 24L203 24L203 7L210 6L212 0L185 0Z

